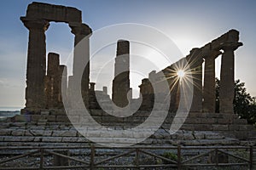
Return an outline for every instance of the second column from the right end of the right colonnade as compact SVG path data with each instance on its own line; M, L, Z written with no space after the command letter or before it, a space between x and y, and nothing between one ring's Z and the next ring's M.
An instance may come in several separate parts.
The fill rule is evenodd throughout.
M203 111L215 112L215 59L220 51L212 50L211 43L207 44L202 53L205 59L204 87L203 87Z

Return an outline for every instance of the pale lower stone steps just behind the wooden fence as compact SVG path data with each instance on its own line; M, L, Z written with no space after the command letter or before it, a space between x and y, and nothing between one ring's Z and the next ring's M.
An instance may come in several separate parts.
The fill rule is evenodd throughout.
M107 134L94 134L90 131L90 136L95 135L104 143ZM132 139L141 139L144 134L124 135L123 141L129 142ZM70 146L91 144L89 139L84 138L69 123L47 122L1 122L0 123L0 146ZM154 145L237 145L241 144L239 139L225 137L221 133L209 131L186 131L179 130L170 134L166 129L160 128L148 139L140 144Z

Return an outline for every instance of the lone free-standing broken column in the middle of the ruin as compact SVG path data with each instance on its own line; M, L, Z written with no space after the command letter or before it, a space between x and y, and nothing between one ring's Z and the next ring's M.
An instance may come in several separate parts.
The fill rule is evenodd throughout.
M130 90L130 44L129 41L117 42L117 53L114 64L112 99L119 107L128 105L127 93Z

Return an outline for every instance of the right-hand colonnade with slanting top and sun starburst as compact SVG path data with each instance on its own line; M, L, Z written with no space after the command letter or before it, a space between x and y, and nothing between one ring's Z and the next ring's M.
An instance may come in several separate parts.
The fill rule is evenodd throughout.
M242 45L239 40L239 32L236 30L230 30L221 37L207 43L202 48L193 48L190 54L185 58L189 63L189 71L191 71L193 77L194 94L193 101L190 108L190 112L215 112L215 59L221 54L221 75L220 75L220 91L219 91L219 104L221 113L234 113L233 111L233 99L234 99L234 52ZM222 53L221 50L224 52ZM177 110L178 99L178 83L177 74L178 69L183 66L183 59L177 61L166 69L163 70L166 75L166 79L169 82L170 91L172 94L171 99L171 111ZM205 63L204 69L204 86L202 87L202 64ZM158 73L154 77L158 77ZM176 77L170 77L170 75L176 75ZM152 75L149 75L149 79ZM152 79L152 78L151 78ZM157 79L157 78L156 78ZM147 79L143 79L143 84L139 86L141 88L141 94L146 96L151 94L149 98L152 98L154 94L150 82ZM147 98L147 97L145 97ZM146 99L147 100L147 99ZM147 100L148 101L148 100ZM150 108L151 106L148 105Z

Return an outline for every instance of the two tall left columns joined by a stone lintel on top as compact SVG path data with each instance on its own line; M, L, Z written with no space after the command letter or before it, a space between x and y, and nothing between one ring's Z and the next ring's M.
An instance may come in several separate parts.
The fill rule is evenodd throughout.
M27 50L27 67L26 67L26 111L40 112L49 106L49 100L56 99L57 94L50 94L46 82L52 82L49 78L56 77L59 74L57 64L58 59L51 61L52 54L49 54L49 75L46 77L46 44L45 31L49 28L49 22L64 22L71 28L74 34L74 46L83 38L87 38L88 47L84 48L84 53L74 51L73 55L73 77L78 77L78 70L81 66L81 60L88 61L85 66L83 78L81 81L82 94L84 98L89 91L89 37L91 29L82 23L81 11L77 8L64 7L61 5L51 5L47 3L31 3L26 10L26 16L20 17L24 26L29 30L28 50ZM83 55L81 55L83 54ZM84 65L82 65L84 66ZM54 78L55 79L55 78ZM46 81L45 81L46 80ZM70 78L72 80L72 78ZM56 81L54 81L56 82ZM55 83L53 87L58 87ZM58 93L54 88L54 93ZM47 96L48 94L51 97ZM48 101L47 101L48 100ZM55 105L55 104L54 104Z

